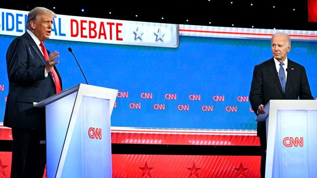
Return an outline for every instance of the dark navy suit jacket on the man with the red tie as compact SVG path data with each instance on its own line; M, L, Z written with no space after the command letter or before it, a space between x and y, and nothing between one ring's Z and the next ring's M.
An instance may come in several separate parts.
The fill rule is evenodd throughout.
M44 77L45 59L27 32L15 38L7 50L9 93L4 125L10 128L45 130L44 108L33 107L56 94L53 75ZM60 75L58 74L60 83Z

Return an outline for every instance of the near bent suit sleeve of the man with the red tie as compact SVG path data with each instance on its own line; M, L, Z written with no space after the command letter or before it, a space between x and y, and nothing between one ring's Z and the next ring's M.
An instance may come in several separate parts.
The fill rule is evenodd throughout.
M8 77L19 84L43 80L45 66L36 62L36 54L24 40L15 39L7 52Z

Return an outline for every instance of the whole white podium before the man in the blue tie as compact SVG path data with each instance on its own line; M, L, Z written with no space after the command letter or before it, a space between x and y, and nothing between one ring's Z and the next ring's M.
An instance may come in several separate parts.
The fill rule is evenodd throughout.
M317 177L317 100L270 100L265 177Z

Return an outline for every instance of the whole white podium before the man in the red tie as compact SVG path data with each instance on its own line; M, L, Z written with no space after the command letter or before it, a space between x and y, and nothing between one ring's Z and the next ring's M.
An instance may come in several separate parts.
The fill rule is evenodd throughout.
M46 107L47 177L112 177L110 116L118 90L79 84Z

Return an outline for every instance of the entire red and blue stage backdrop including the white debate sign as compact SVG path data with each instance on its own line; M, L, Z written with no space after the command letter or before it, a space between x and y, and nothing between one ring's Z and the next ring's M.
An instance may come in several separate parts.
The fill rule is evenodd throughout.
M9 87L6 51L25 32L27 13L0 9L0 122ZM71 47L90 85L119 90L111 116L114 144L259 146L248 94L254 66L272 57L275 32L291 36L288 58L306 67L316 97L316 31L58 15L46 46L60 53L57 67L64 89L85 83ZM1 170L10 173L1 169L10 164L4 162L0 157L0 177ZM257 177L259 169L259 155L219 151L112 155L113 177Z

